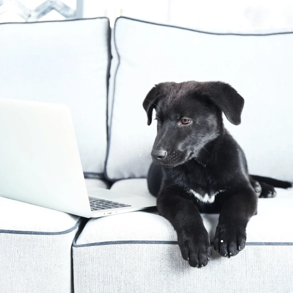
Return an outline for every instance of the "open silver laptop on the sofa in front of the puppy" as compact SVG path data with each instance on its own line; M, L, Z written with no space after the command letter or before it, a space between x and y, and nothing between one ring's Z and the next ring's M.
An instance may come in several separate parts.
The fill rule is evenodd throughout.
M0 139L0 196L87 218L156 206L151 194L87 191L66 105L0 99Z

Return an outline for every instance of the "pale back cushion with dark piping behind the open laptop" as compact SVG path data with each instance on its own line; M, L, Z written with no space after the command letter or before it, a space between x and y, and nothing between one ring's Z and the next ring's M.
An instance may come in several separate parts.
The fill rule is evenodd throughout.
M84 172L103 174L107 18L0 25L0 97L69 106Z

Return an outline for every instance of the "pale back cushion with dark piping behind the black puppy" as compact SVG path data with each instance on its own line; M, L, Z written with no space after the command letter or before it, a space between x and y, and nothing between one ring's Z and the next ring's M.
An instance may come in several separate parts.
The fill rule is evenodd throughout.
M127 18L114 30L108 178L147 175L156 123L147 126L142 102L154 84L219 80L245 99L241 125L223 117L250 173L293 179L293 33L213 34Z

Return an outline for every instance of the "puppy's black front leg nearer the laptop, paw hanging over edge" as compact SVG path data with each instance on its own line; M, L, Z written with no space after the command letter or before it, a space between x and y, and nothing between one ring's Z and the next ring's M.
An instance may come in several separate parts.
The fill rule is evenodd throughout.
M180 196L184 193L177 186L163 188L157 198L157 207L175 228L183 258L192 267L200 268L209 261L209 235L195 204Z

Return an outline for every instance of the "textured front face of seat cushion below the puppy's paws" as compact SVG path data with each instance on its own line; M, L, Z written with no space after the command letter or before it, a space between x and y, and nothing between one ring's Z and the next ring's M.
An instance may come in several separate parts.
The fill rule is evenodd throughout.
M74 292L290 293L292 255L292 246L247 246L230 259L213 252L197 269L174 244L73 248Z

